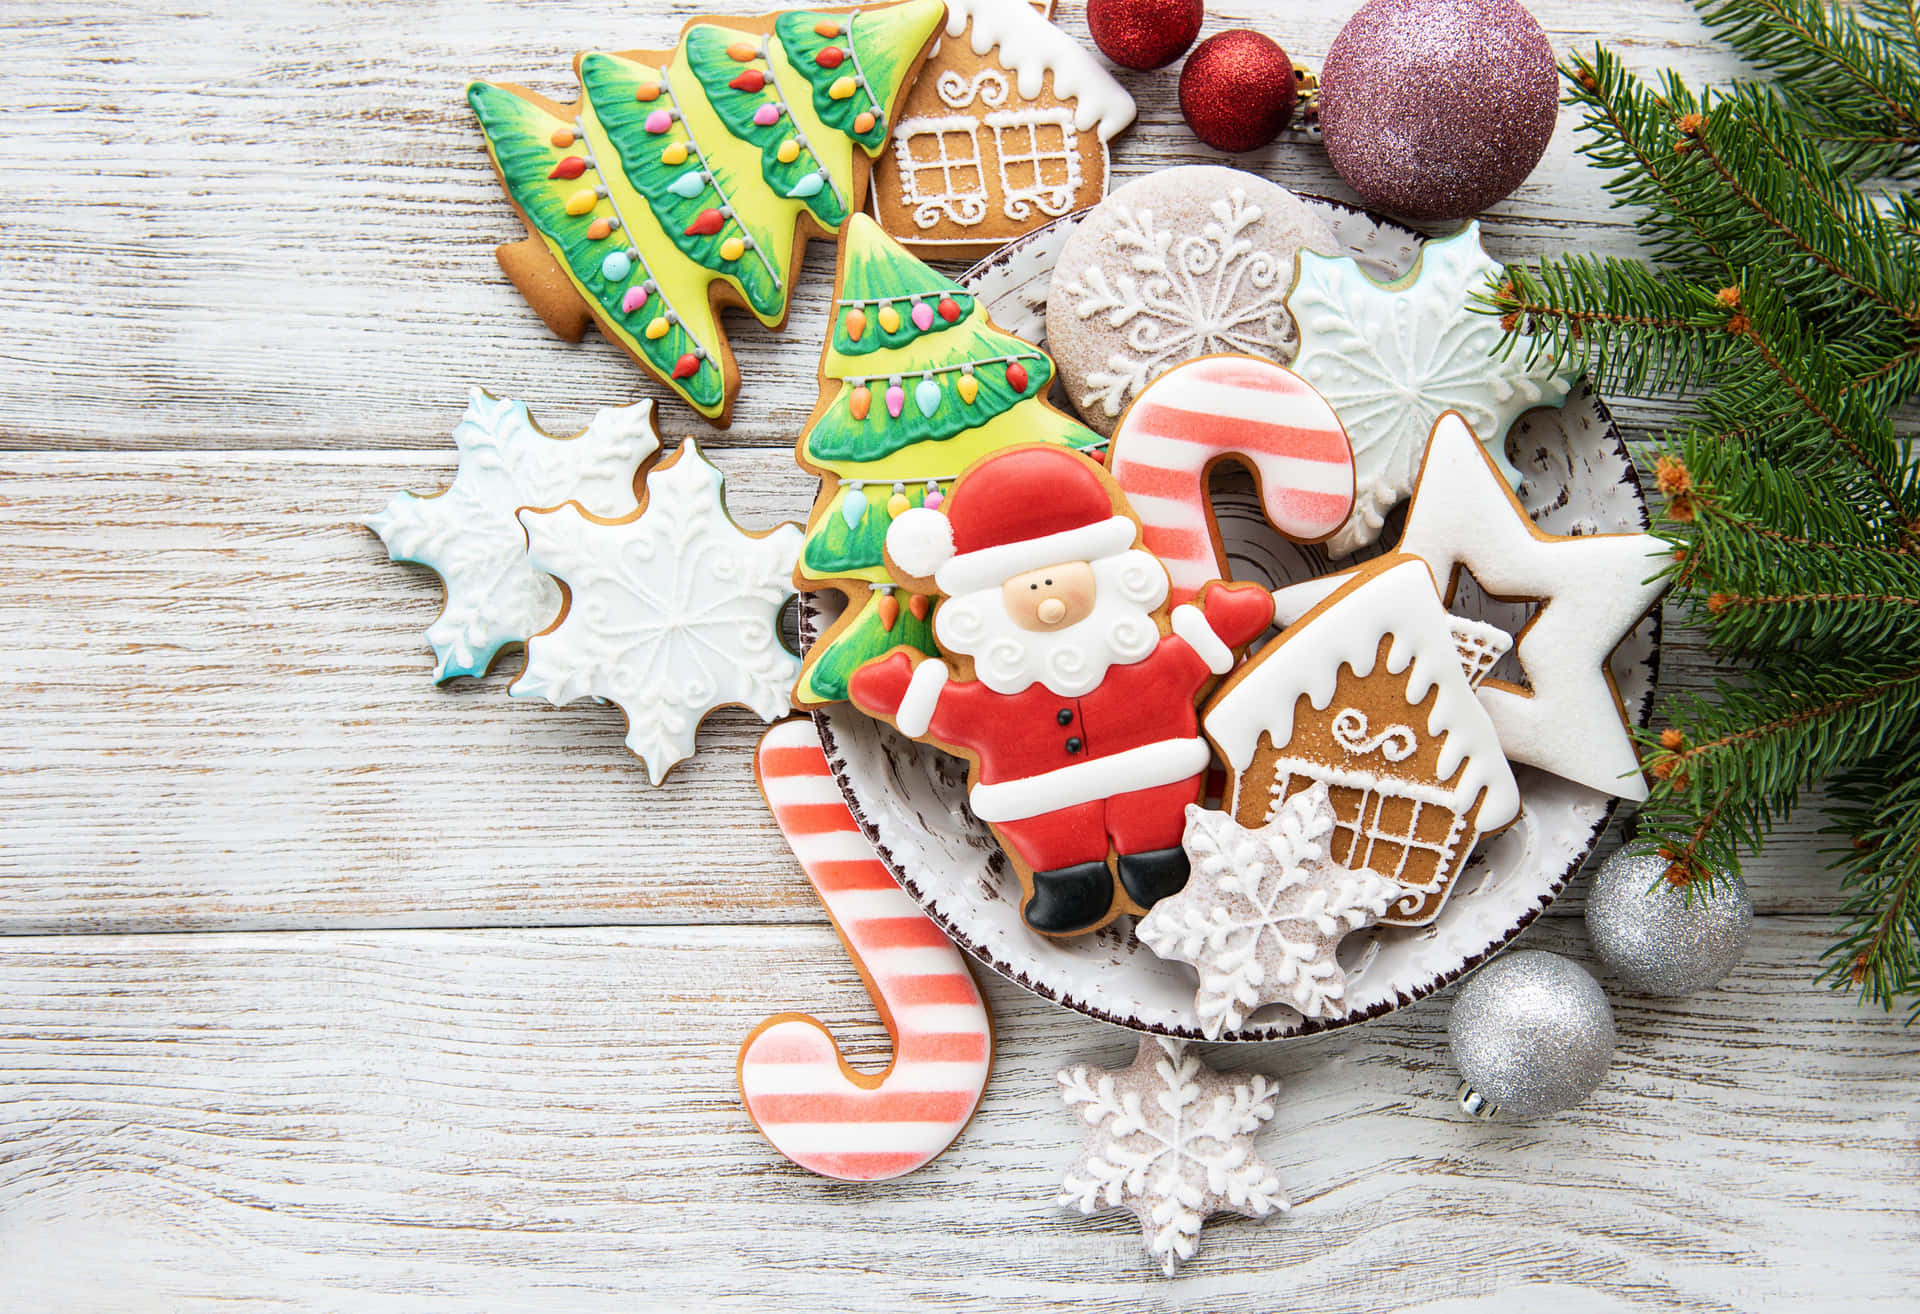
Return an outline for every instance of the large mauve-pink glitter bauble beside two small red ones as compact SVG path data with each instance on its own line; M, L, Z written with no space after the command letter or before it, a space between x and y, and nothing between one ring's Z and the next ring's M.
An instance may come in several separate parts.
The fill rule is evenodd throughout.
M1369 0L1321 69L1327 156L1396 219L1467 219L1553 136L1553 46L1519 0Z

